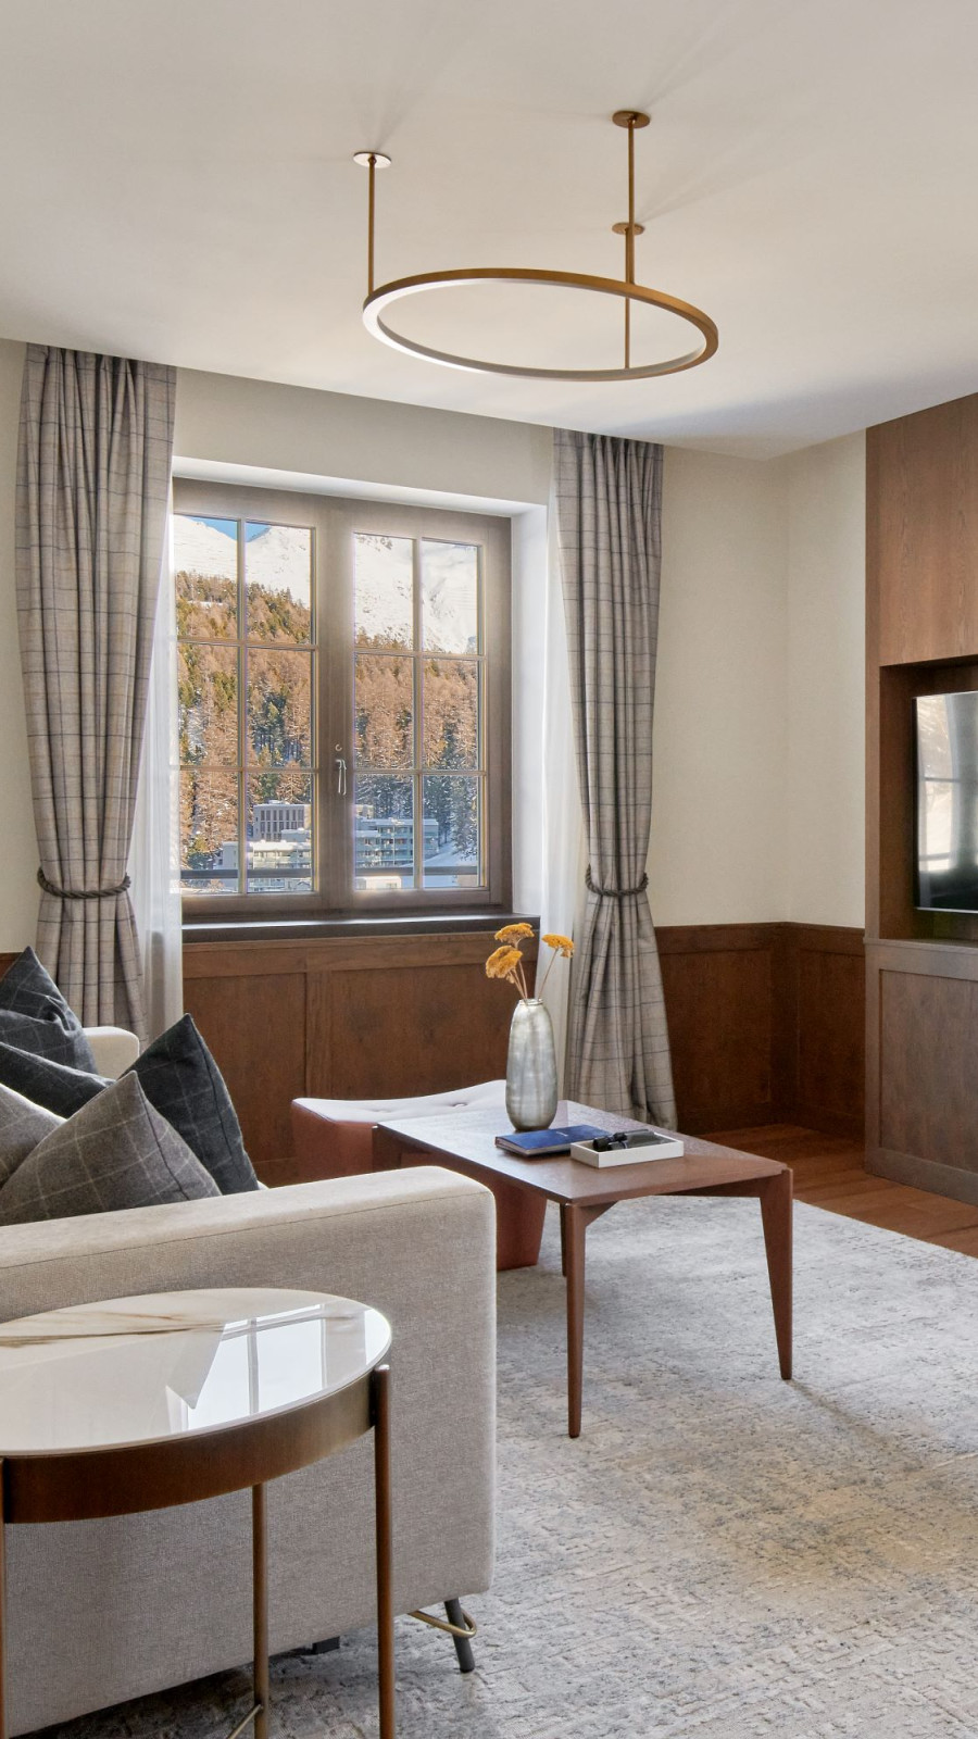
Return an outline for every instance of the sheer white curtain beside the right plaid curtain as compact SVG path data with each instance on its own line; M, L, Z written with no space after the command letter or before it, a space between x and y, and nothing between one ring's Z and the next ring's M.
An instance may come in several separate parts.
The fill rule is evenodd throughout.
M543 640L543 903L541 932L574 936L581 913L585 885L585 830L578 767L574 762L574 730L571 722L571 670L567 663L567 630L564 621L564 591L560 584L560 555L557 550L557 518L553 497L546 516L546 612ZM541 948L546 967L548 949ZM557 1068L564 1090L564 1063L567 1050L567 998L571 970L564 960L553 962L543 1000L553 1021Z

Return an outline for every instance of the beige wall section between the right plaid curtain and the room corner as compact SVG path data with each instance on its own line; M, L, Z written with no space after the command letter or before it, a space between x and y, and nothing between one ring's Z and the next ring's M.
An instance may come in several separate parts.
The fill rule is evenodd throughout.
M656 923L787 916L781 461L668 449L649 897Z

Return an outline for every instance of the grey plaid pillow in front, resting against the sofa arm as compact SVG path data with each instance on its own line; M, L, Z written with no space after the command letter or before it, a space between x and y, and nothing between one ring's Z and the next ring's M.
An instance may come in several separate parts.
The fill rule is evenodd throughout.
M200 1160L124 1075L21 1160L0 1189L0 1226L216 1195Z

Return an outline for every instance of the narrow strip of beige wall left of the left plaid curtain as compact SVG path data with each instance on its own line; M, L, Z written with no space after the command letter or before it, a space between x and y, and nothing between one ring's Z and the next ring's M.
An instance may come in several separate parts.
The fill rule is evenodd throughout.
M33 941L37 836L14 588L14 485L24 346L0 339L0 951Z

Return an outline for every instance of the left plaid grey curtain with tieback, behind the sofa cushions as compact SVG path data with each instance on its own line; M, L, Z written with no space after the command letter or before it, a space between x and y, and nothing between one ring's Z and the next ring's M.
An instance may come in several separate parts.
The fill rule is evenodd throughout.
M17 617L42 887L37 949L85 1026L144 1036L129 842L176 370L30 344Z

